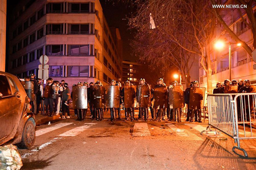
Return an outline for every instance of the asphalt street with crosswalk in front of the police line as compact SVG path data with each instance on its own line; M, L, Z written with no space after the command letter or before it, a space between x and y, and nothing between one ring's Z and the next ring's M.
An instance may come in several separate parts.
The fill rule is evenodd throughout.
M244 159L233 153L233 139L224 134L200 135L206 123L184 121L110 122L105 119L99 122L86 119L78 122L72 116L51 125L37 126L34 147L19 150L23 159L21 169L256 169L255 140L241 142L249 155Z

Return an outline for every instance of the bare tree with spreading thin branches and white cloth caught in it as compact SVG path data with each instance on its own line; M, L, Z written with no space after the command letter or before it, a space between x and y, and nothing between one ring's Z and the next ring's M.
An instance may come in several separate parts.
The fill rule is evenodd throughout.
M137 12L129 19L129 25L137 29L139 36L149 36L150 44L141 46L151 48L156 58L177 65L183 72L186 59L191 58L183 56L201 57L200 63L207 74L207 90L212 93L210 46L216 20L209 7L209 2L201 0L142 0L137 2ZM150 14L155 29L149 29ZM155 63L161 61L153 57L149 60L155 60Z

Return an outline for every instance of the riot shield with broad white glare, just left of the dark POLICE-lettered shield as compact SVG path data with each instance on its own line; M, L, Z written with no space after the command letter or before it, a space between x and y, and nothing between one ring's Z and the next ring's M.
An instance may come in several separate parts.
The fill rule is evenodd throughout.
M73 109L87 109L87 87L73 86Z

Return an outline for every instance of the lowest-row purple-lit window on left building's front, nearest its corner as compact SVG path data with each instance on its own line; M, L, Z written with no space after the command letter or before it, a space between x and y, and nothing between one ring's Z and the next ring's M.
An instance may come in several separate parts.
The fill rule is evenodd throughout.
M89 66L67 66L69 77L89 77Z

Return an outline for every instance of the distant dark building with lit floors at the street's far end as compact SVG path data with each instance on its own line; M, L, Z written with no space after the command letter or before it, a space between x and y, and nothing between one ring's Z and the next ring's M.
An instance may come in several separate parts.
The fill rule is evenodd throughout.
M123 61L122 62L122 83L129 80L132 84L138 85L138 82L140 80L140 63L137 62L129 62L129 61Z

